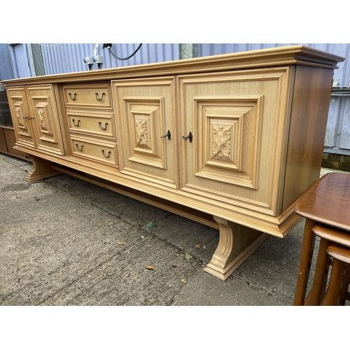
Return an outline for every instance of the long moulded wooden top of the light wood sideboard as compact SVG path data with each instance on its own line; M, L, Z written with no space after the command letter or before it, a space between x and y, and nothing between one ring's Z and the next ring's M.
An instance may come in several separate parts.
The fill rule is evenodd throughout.
M318 66L337 69L344 57L309 48L304 45L282 46L263 50L235 52L225 55L197 57L176 61L139 64L111 69L80 71L75 73L54 74L3 80L6 86L42 83L74 83L84 81L112 80L119 78L141 78L146 76L165 76L171 74L207 73L231 69L265 68L269 66Z

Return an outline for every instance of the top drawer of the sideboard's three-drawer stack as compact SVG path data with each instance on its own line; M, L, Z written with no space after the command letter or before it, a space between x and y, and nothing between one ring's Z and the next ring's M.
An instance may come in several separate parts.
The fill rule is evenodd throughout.
M111 85L109 83L63 85L66 107L111 109Z

